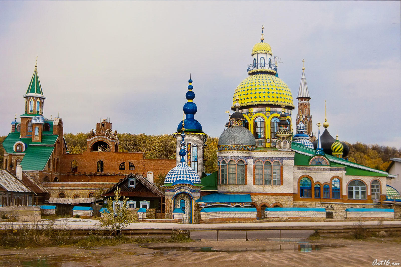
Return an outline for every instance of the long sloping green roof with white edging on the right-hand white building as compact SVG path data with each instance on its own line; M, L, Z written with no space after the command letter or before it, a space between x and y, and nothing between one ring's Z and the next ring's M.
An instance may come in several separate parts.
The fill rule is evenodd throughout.
M309 166L309 160L312 156L315 156L316 150L307 148L301 144L291 143L291 148L294 150L294 165L297 166ZM325 154L330 162L330 167L345 167L345 175L356 175L356 176L389 176L387 172L369 168L342 158L336 158L331 155Z

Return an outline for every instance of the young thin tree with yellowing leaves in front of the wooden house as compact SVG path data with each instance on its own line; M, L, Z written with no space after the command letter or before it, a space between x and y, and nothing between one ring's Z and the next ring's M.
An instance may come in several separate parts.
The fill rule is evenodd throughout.
M117 231L127 227L130 223L133 222L133 215L128 210L127 200L125 196L123 196L122 201L121 198L121 188L118 188L114 191L114 201L113 198L109 198L107 200L107 211L103 213L103 220L100 220L101 226L106 229L111 230L111 235L116 236ZM122 203L121 203L122 202ZM114 203L114 209L113 209Z

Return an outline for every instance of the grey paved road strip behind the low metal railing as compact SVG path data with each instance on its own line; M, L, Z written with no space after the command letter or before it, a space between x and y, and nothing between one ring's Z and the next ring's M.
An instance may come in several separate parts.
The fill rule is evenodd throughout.
M281 241L298 241L309 237L313 230L282 230ZM192 239L211 241L217 239L217 231L190 231ZM247 231L249 240L271 240L279 241L279 231ZM223 239L245 239L245 231L219 231L219 240Z

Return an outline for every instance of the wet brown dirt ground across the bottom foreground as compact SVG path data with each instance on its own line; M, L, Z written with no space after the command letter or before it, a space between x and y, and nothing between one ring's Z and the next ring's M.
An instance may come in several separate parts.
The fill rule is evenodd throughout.
M338 245L343 246L338 247ZM149 247L158 249L150 249ZM192 248L189 249L188 247ZM217 251L207 251L210 249ZM124 244L95 248L69 246L1 249L0 266L328 267L373 266L372 263L375 259L377 259L377 262L389 260L390 264L400 263L399 266L401 266L400 249L400 243L391 241L347 239L324 239L304 242L223 240L190 243L148 243L142 245Z

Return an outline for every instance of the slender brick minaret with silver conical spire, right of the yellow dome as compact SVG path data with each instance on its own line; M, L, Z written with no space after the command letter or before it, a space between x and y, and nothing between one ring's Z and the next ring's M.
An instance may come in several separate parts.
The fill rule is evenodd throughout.
M302 59L302 77L300 83L300 89L298 91L298 114L297 114L297 124L301 121L305 125L305 133L311 136L312 134L312 115L310 114L310 103L309 103L309 91L308 85L306 84L305 78L305 60ZM302 115L302 116L301 116ZM314 138L313 135L311 138ZM314 141L314 140L311 140Z

